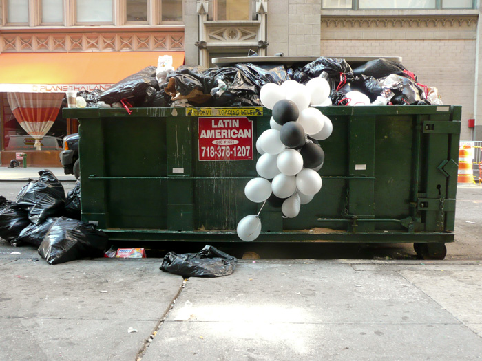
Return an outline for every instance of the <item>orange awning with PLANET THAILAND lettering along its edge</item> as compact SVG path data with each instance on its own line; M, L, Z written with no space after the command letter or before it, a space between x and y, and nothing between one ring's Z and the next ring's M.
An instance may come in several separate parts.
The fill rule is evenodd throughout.
M84 52L0 54L0 92L104 90L119 80L157 66L160 55L172 56L176 69L184 52Z

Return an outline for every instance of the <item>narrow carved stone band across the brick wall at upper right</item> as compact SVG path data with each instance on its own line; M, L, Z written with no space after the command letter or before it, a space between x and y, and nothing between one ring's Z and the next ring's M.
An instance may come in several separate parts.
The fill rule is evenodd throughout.
M363 26L379 27L430 27L430 26L471 26L476 25L476 17L322 17L322 25L327 28L350 27L361 28Z

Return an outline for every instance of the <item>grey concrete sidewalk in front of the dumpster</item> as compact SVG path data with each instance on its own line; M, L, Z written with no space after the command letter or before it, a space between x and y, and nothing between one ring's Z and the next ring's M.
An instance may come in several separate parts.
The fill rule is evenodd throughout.
M482 358L477 261L240 261L187 281L160 262L48 265L2 241L0 360Z

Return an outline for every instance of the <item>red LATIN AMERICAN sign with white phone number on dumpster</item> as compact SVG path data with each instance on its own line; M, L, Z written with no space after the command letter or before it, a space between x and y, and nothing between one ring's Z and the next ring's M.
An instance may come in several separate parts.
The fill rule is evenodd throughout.
M198 118L199 160L252 160L253 122L246 117Z

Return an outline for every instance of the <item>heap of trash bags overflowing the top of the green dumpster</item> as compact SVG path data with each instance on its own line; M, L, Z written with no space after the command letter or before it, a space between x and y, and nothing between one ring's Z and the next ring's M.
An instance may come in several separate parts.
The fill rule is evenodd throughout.
M346 96L350 91L364 94L372 105L442 104L437 88L418 83L401 63L379 58L352 69L342 58L323 56L290 67L238 63L209 69L182 65L176 70L161 56L158 67L146 67L103 92L81 91L78 96L87 107L124 107L128 112L132 107L252 107L261 105L260 89L266 83L306 84L318 76L331 86L331 102L323 106L355 105Z

